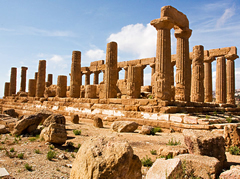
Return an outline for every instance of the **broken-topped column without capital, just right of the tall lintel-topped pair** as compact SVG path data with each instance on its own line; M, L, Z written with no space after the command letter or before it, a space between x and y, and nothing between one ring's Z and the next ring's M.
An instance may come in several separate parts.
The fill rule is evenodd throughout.
M204 102L204 50L202 45L193 47L191 101Z

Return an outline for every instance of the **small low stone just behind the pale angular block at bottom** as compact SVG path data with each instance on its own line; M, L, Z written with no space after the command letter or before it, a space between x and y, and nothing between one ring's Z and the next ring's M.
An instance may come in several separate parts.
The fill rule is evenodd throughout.
M169 146L169 145L161 145L159 148L159 155L160 156L169 156L175 157L180 154L188 153L188 149L184 146L176 145L176 146Z

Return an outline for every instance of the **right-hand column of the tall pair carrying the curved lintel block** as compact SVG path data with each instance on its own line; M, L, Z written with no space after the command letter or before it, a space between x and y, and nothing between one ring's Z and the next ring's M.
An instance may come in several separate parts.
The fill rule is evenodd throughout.
M175 29L177 38L176 53L176 101L190 101L191 89L191 63L189 60L189 42L188 39L192 34L191 29Z

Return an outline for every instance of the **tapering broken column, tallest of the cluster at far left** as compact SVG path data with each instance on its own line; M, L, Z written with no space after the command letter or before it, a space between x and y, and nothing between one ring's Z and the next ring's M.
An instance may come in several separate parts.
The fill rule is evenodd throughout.
M46 80L46 60L39 60L36 97L43 97Z

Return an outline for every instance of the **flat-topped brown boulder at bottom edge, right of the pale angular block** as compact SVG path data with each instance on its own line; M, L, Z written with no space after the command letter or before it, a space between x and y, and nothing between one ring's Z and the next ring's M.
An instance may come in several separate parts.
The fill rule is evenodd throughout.
M217 178L222 170L221 163L215 157L182 154L175 158L182 161L182 167L187 178L194 176L196 178L214 179Z

